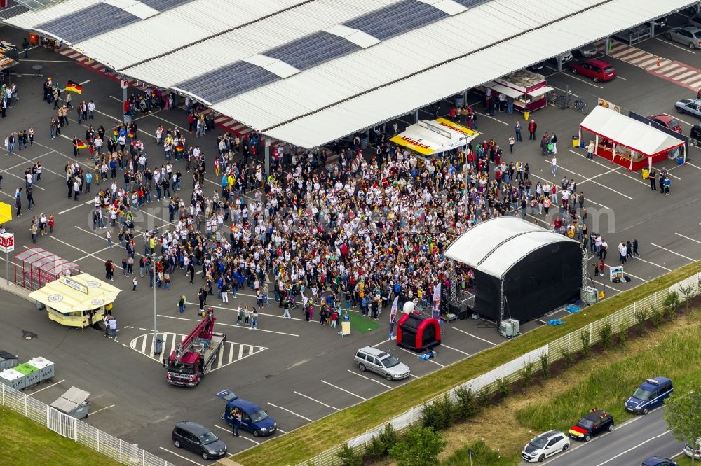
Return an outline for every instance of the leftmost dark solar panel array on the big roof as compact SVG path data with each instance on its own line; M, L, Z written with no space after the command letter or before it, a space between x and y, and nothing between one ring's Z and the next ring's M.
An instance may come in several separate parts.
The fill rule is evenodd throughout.
M95 3L93 6L39 24L35 29L47 31L69 43L78 43L137 21L138 16L121 8L107 3Z

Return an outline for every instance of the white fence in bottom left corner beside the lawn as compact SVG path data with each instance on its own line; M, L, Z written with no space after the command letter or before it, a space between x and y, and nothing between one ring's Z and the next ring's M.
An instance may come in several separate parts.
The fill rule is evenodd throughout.
M89 446L123 465L174 466L135 444L106 434L3 383L0 383L0 402L2 406L9 407L64 437Z

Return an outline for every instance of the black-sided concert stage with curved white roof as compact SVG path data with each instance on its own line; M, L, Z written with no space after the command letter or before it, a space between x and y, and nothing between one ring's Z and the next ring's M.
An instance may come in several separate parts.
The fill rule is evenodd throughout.
M475 308L486 318L531 320L580 297L582 244L516 217L477 223L446 250L475 274Z

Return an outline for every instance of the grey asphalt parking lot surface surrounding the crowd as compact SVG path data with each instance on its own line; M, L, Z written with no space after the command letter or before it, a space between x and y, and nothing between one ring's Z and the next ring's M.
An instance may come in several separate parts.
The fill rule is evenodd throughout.
M19 31L3 27L0 34L8 41L21 43ZM697 55L666 43L666 39L651 39L635 47L690 66L699 63ZM0 200L12 202L15 188L24 187L22 174L32 162L40 160L44 174L34 190L34 209L27 211L26 205L23 206L22 216L6 227L15 232L16 248L22 250L33 246L28 232L31 216L41 212L53 213L55 233L40 236L36 246L77 262L83 271L102 276L104 261L111 259L119 265L125 251L117 244L107 248L104 230L92 230L90 211L93 198L83 195L78 202L67 199L64 183L64 166L69 160L75 160L69 138L74 134L81 137L86 128L77 125L72 113L71 125L62 131L68 138L51 141L48 138L48 120L54 111L52 106L41 101L41 86L47 76L52 76L59 83L67 80L83 83L83 94L74 95L74 103L77 98L93 99L97 104L95 120L86 124L94 127L104 125L107 129L116 124L121 115L121 90L114 80L93 73L54 52L35 49L29 54L29 59L20 60L16 70L22 76L12 77L20 88L20 101L8 109L7 118L2 121L2 132L27 129L32 125L36 130L35 143L31 148L16 151L13 155L7 155L0 149L0 169L4 175ZM674 102L695 94L687 87L628 62L615 58L608 61L620 73L619 78L610 83L592 83L566 71L557 73L554 70L548 72L548 83L559 89L569 88L576 97L586 99L590 108L597 97L603 97L622 108L645 115L674 115ZM33 79L29 71L35 63L44 66L43 76L39 79ZM482 111L482 106L475 102L474 97L470 97L470 102L475 104L478 111ZM444 109L447 109L446 104ZM536 111L532 116L538 122L538 134L545 131L557 133L560 141L557 155L559 171L554 180L559 181L563 175L575 178L578 190L585 192L586 206L590 212L590 232L601 232L612 251L607 264L618 263L615 245L619 241L638 239L640 243L640 259L630 260L625 265L625 274L632 281L606 283L607 297L701 259L698 209L701 195L697 190L697 178L701 175L699 148L690 148L689 163L684 166L676 166L672 161L658 164L658 169L662 165L671 169L673 176L671 194L664 196L651 191L639 173L629 173L627 169L611 165L603 159L586 160L583 150L572 148L571 136L577 134L578 123L584 116L581 113L551 107ZM421 117L428 118L428 113L422 113ZM484 138L494 138L501 146L508 148L507 139L517 118L522 119L522 115L480 115L479 131ZM684 133L688 134L688 123L694 121L688 116L682 118L686 120L680 120ZM401 120L404 123L400 122L400 125L411 121L410 117ZM156 127L186 127L184 113L177 110L140 116L137 123L139 136L149 154L150 166L153 160L163 163L163 153L155 145ZM217 134L220 132L215 130L214 134L209 132L203 139L189 139L198 143L205 154L211 155L215 153ZM508 153L508 150L505 152ZM517 159L529 162L533 181L553 179L549 162L540 157L537 143L517 143L513 156L507 154L505 160ZM78 160L84 169L92 168L86 151L81 151ZM208 163L211 160L211 157L207 157ZM182 162L177 162L176 167L184 170ZM208 174L205 184L210 191L219 186L213 174ZM181 195L189 197L190 186L185 178ZM93 192L98 189L98 186L93 186ZM538 215L528 218L544 226L549 220ZM135 223L138 230L144 231L153 227L168 227L167 220L167 206L152 202L136 213ZM137 253L143 253L142 249L140 238L137 238ZM590 264L593 267L593 259ZM2 269L0 264L0 274ZM181 293L185 293L190 302L196 302L200 278L196 278L196 284L189 285L184 276L175 275L170 291L156 290L157 330L159 334L168 332L166 352L199 320L196 306L190 305L186 313L177 315L175 305ZM601 288L599 278L595 278L595 281ZM329 327L306 323L299 310L293 311L292 320L283 319L275 304L261 310L259 330L247 330L236 326L233 311L238 304L255 304L252 295L244 290L237 299L231 299L229 306L223 306L216 297L208 300L207 304L215 305L217 330L225 332L230 343L222 352L221 360L215 363L215 370L207 374L200 386L174 388L165 383L161 362L149 355L154 328L154 298L148 281L140 280L137 292L132 292L131 277L123 277L121 270L117 269L114 284L123 290L113 311L119 327L115 341L105 339L96 330L81 332L60 327L50 322L44 313L36 311L32 304L4 293L8 306L2 306L0 311L2 349L18 353L20 362L41 355L56 363L55 379L51 383L29 388L27 393L44 402L51 402L70 386L88 390L92 402L90 411L93 413L86 420L88 423L179 465L205 463L192 453L175 451L172 446L170 430L175 423L184 419L210 426L224 437L231 452L264 441L247 433L238 439L227 437L226 425L219 418L224 402L215 397L215 393L224 388L231 388L241 397L266 409L278 421L280 432L275 435L283 435L410 380L388 382L380 376L360 374L352 358L357 348L365 345L386 348L407 363L414 376L423 376L505 341L493 323L458 320L445 329L444 344L438 348L437 358L423 361L390 344L385 314L380 318L379 330L340 337ZM522 332L545 325L548 318L566 320L566 314L559 311L547 318L522 323ZM21 330L34 332L39 338L23 340L20 338Z

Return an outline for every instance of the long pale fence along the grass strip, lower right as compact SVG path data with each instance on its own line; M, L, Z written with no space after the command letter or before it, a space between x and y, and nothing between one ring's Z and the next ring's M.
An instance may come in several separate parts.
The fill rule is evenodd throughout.
M665 301L665 298L670 293L676 292L677 295L679 295L680 301L683 300L684 294L681 291L682 289L693 289L689 298L699 295L701 293L701 273L694 274L693 276L690 276L678 283L674 283L674 285L666 288L665 290L656 291L653 294L634 302L633 304L629 304L619 311L615 311L611 314L611 316L596 320L588 325L585 325L579 330L570 332L557 340L551 341L545 346L536 348L533 351L516 358L515 360L511 360L510 362L507 362L496 369L486 372L486 374L482 374L475 377L475 379L462 383L460 386L453 388L446 393L433 397L432 399L428 400L426 404L431 404L435 402L435 400L444 397L444 395L448 395L451 400L456 401L457 388L470 388L473 392L486 390L489 393L494 393L496 386L500 381L508 381L509 383L513 383L519 379L522 379L525 365L532 363L534 365L534 371L540 369L541 355L547 355L548 363L552 364L553 362L564 358L568 353L572 354L580 351L583 348L582 336L585 334L585 332L588 332L590 344L594 345L601 341L601 329L605 327L606 324L611 324L611 330L613 330L614 334L620 332L621 330L627 330L638 323L637 319L641 317L641 313L639 311L646 311L645 318L650 318L651 306L655 306L656 308L660 309L662 307L662 303ZM414 423L421 420L422 410L423 404L412 407L409 409L409 411L405 411L399 416L395 416L394 418L390 419L390 421L383 423L382 425L366 430L365 433L358 435L357 437L353 437L344 443L348 444L348 446L350 446L356 453L362 453L362 451L365 451L365 445L370 442L373 437L379 435L379 433L384 430L386 425L392 424L393 428L395 428L397 432L404 432L409 429L411 425L414 425ZM297 463L295 466L342 465L341 459L337 456L342 449L343 444L336 445L331 449L322 451L313 458L309 458L304 463Z

